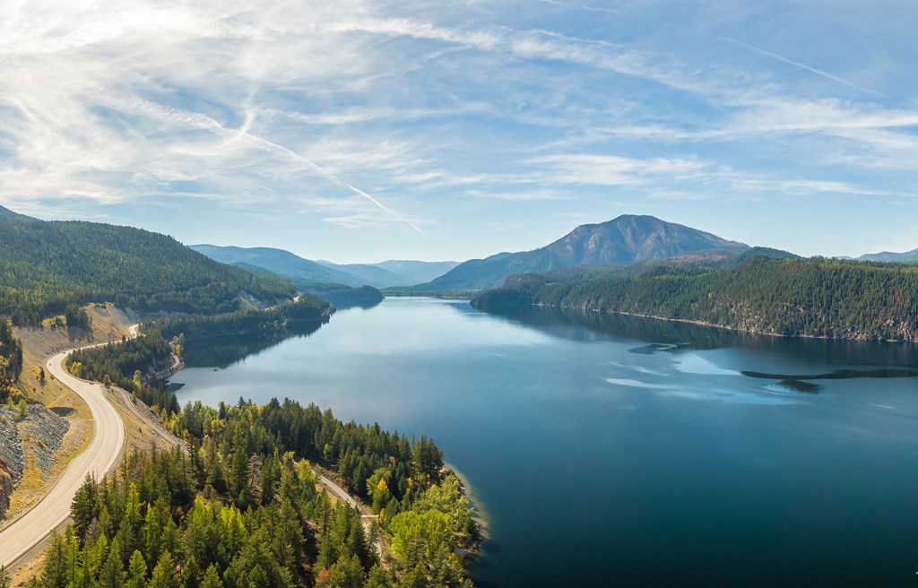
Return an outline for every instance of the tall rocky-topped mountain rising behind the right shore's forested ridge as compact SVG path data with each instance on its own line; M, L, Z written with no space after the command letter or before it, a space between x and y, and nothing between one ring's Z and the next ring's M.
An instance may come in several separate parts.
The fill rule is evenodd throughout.
M580 265L627 265L705 252L733 256L749 247L654 216L623 215L599 225L582 225L542 249L498 253L460 263L416 291L468 290L499 286L516 273L547 272Z

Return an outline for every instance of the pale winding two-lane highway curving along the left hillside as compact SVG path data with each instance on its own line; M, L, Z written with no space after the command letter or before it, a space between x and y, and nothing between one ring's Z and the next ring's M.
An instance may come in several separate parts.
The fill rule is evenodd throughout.
M101 480L115 467L125 446L124 421L106 399L102 384L84 382L63 369L62 361L69 353L65 351L55 355L45 369L89 405L95 423L93 438L89 446L70 462L50 492L0 533L0 565L7 568L12 567L47 538L53 529L67 520L73 495L83 485L86 474L92 473Z

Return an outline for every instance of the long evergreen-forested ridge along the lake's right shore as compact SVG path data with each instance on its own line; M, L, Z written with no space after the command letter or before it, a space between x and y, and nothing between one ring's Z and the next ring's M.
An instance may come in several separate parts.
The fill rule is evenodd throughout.
M512 276L477 308L553 305L697 321L774 335L918 340L918 267L756 255L735 266L635 275Z

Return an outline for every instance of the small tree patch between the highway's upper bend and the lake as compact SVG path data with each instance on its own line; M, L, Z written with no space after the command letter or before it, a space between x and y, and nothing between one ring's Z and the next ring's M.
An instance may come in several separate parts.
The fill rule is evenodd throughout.
M76 349L66 362L73 375L124 388L158 413L164 411L168 416L179 410L174 393L147 383L151 372L172 364L172 348L159 333Z

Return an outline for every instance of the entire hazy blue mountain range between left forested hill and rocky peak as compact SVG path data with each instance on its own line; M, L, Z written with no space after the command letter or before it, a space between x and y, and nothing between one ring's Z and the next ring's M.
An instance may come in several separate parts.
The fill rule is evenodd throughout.
M216 245L191 245L191 249L212 260L240 265L247 269L262 268L284 276L301 288L311 289L317 283L363 285L375 288L409 286L448 272L458 261L382 261L380 263L337 264L311 261L287 250L268 247L241 248Z

